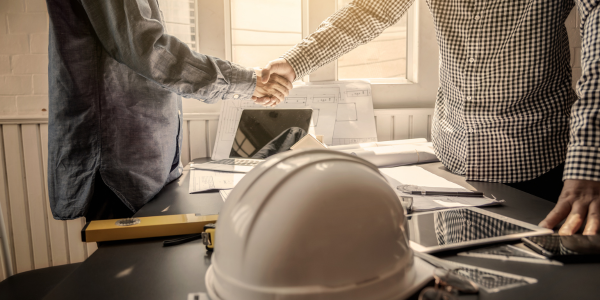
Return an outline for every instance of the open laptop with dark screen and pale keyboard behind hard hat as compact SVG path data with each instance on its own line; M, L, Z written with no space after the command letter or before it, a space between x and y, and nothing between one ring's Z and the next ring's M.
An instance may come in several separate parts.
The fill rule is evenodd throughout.
M246 173L271 155L290 149L308 134L312 109L242 111L228 159L193 164L193 169Z

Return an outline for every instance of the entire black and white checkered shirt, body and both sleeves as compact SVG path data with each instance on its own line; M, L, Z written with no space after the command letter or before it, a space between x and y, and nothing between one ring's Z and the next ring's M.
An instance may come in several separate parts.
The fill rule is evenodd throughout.
M377 37L413 1L355 0L283 57L302 78ZM575 0L427 3L440 47L432 136L444 165L469 180L508 183L566 157L564 179L600 181L600 0L577 0L579 97L564 25Z

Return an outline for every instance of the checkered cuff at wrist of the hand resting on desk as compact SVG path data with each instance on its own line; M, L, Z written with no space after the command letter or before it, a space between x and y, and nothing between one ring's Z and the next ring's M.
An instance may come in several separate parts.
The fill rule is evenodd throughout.
M600 149L588 146L569 146L563 180L600 181Z

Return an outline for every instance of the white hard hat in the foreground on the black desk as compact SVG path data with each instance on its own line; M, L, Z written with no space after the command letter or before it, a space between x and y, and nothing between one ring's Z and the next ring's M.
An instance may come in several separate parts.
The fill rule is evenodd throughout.
M213 300L403 299L433 274L407 236L398 197L374 165L289 151L227 198L206 286Z

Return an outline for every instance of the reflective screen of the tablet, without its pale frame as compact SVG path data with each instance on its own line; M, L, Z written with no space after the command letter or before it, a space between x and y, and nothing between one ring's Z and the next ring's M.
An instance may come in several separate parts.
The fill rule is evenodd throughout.
M423 247L533 232L467 208L416 214L408 218L410 240Z

